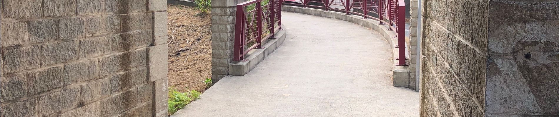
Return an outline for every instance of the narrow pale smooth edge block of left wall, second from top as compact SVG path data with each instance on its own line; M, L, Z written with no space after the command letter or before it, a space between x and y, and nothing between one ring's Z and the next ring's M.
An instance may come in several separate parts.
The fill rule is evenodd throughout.
M153 33L155 37L167 35L167 12L153 12Z

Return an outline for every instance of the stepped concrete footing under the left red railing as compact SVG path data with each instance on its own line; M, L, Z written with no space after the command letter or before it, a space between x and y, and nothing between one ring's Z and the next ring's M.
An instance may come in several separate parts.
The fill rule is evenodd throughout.
M282 26L283 27L283 26ZM245 75L252 70L258 63L262 62L269 54L285 40L286 30L278 30L274 35L275 39L267 39L263 45L264 49L253 49L247 53L247 61L229 63L229 75Z

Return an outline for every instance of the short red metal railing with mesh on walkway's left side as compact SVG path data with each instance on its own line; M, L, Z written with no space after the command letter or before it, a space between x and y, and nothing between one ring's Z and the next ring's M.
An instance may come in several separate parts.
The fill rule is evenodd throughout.
M281 0L252 0L237 4L233 60L245 61L252 49L263 49L281 30Z

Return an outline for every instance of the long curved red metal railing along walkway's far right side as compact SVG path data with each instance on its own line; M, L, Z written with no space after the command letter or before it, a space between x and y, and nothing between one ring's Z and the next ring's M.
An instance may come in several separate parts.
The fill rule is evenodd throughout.
M295 0L283 4L356 14L364 19L375 19L379 24L387 24L389 30L395 30L394 38L398 38L396 65L407 65L406 59L400 59L406 58L404 0Z

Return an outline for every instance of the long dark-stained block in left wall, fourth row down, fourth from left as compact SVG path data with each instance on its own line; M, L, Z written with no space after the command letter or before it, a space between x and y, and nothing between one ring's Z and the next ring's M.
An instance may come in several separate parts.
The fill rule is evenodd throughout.
M99 59L100 75L124 71L134 67L145 66L146 49L132 50L130 52L112 54Z

